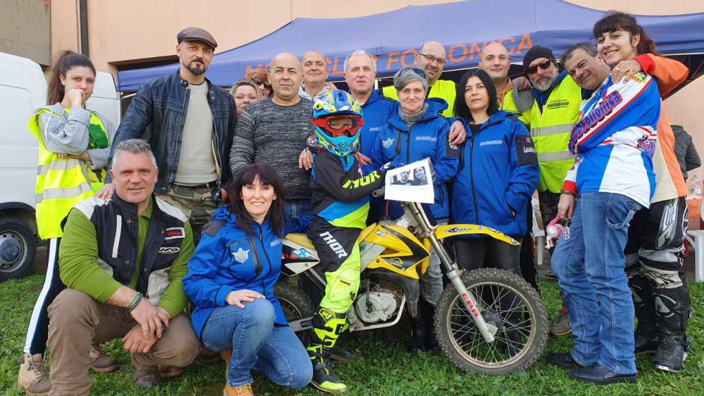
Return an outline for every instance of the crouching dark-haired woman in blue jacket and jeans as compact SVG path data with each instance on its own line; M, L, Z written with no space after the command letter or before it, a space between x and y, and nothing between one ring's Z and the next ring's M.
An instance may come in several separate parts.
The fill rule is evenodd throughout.
M284 214L284 188L275 171L254 163L235 176L182 280L196 305L193 328L227 363L224 395L252 395L251 370L279 385L310 382L308 352L289 328L274 285L281 273L282 237L308 228L310 217Z

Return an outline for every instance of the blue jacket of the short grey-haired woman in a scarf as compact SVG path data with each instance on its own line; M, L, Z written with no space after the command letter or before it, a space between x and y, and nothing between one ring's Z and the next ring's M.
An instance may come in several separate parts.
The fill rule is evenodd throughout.
M437 219L448 218L450 197L446 182L457 173L457 149L451 147L447 140L450 132L447 118L439 115L447 109L447 102L430 98L425 103L428 104L428 109L410 131L398 113L386 121L372 149L372 166L365 168L365 171L378 169L389 161L411 163L429 157L435 173L435 204L430 205L430 210ZM382 207L382 212L384 211ZM403 212L398 202L389 201L389 216L397 218L401 214Z

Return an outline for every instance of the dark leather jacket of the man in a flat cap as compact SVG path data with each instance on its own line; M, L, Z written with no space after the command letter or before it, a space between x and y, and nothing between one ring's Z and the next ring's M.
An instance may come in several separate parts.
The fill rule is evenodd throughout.
M215 161L220 172L218 186L213 188L212 193L213 199L218 202L220 185L225 185L232 178L230 147L234 127L237 124L237 113L230 94L213 85L207 78L206 82L208 83L208 103L213 113ZM176 179L189 94L188 82L181 78L178 71L172 75L144 82L137 90L125 116L122 117L112 144L111 159L115 147L118 147L122 140L145 139L149 142L156 157L156 165L159 167L159 178L155 188L157 193L167 192L169 185Z

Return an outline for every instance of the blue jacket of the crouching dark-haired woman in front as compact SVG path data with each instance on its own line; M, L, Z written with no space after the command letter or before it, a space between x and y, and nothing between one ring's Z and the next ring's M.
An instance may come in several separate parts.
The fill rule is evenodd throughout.
M303 233L310 216L286 219L282 235ZM225 297L233 290L253 290L273 304L276 323L287 325L274 285L281 273L282 240L265 221L253 222L255 235L237 227L230 205L220 206L201 235L201 242L188 262L183 290L196 305L191 323L198 338L216 307L225 307ZM245 303L246 305L246 303Z

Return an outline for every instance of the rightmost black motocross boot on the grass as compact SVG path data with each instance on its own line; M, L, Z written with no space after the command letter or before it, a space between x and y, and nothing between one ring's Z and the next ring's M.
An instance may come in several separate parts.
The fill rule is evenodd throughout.
M673 289L656 288L653 292L660 330L660 347L655 352L653 364L660 371L679 373L688 349L689 289L682 285Z

